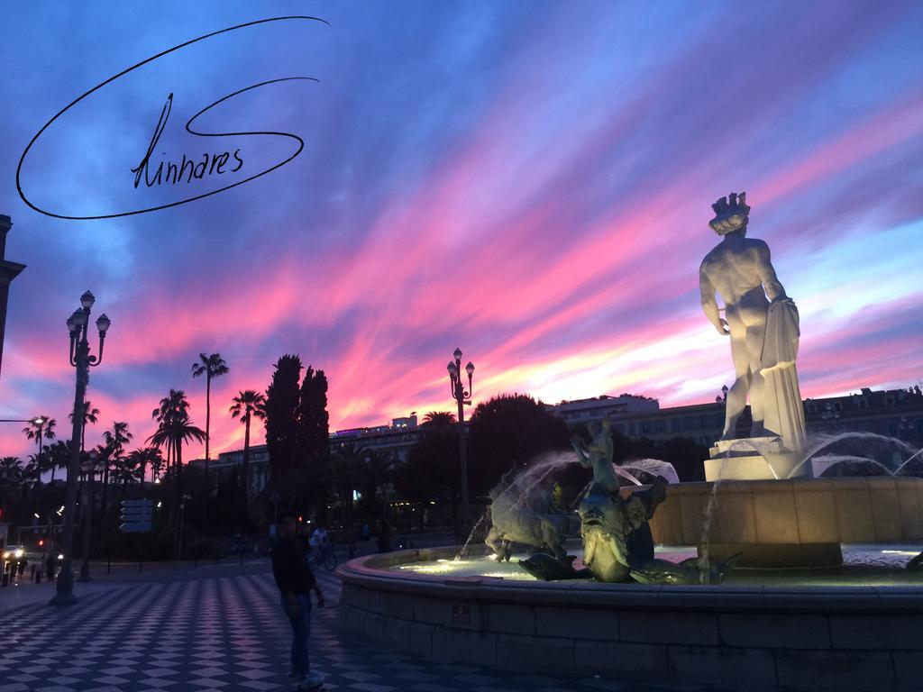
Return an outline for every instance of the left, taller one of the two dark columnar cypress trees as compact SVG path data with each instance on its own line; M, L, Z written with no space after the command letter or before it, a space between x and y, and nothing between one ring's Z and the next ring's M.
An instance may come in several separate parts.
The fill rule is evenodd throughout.
M277 478L292 471L298 463L298 413L301 359L283 355L275 364L270 387L266 390L266 447L270 470Z

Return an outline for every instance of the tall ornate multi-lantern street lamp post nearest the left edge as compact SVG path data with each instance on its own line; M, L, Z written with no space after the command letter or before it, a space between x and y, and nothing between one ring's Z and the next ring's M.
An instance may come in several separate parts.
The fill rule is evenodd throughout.
M51 600L52 605L71 605L77 603L74 595L74 514L77 506L77 476L80 472L80 436L83 432L83 400L90 381L90 367L102 363L102 344L106 330L112 324L109 317L99 316L96 328L100 332L99 355L90 355L90 342L87 334L90 330L90 308L96 299L93 294L85 292L80 296L80 307L67 319L70 332L70 364L77 368L77 388L74 393L74 428L70 438L70 459L67 463L67 485L64 502L64 563L57 580L57 593Z

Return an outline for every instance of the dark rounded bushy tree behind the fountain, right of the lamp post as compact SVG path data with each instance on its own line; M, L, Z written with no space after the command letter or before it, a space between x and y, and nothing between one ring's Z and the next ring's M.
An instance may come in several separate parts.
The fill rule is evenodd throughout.
M545 404L522 394L501 394L474 409L468 431L473 493L485 495L515 464L541 452L569 448L567 424Z

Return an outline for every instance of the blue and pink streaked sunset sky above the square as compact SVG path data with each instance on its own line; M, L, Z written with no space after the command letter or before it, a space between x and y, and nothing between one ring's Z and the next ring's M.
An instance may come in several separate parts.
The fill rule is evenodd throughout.
M179 43L58 118L104 80ZM0 9L0 213L13 282L0 418L67 435L66 318L113 321L87 434L140 443L170 388L205 425L190 366L220 352L212 450L234 394L299 353L330 379L331 430L475 403L632 392L661 406L730 384L701 313L711 203L746 190L801 314L801 392L923 377L923 4L918 2L11 3ZM135 188L151 163L239 149L237 172ZM230 159L234 163L234 158ZM229 164L230 165L230 164ZM151 171L153 173L153 171ZM95 345L94 345L95 348ZM34 447L0 424L0 456ZM262 439L262 431L256 434ZM193 459L202 450L184 454Z

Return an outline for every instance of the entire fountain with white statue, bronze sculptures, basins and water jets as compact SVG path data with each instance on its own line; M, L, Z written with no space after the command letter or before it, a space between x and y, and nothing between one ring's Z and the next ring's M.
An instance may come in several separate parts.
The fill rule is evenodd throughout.
M653 459L615 466L608 422L593 424L589 444L575 437L573 453L502 479L485 544L340 567L344 629L529 673L918 685L923 478L910 473L920 452L902 447L907 459L894 461L869 451L903 444L880 435L806 435L795 304L766 245L746 238L745 196L713 209L725 238L702 262L702 307L729 337L737 380L707 480L678 483ZM754 426L734 439L748 395ZM577 511L555 507L547 486L574 461L593 471ZM843 475L857 471L872 473Z

